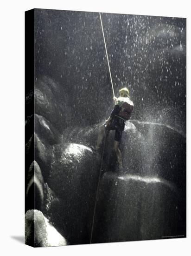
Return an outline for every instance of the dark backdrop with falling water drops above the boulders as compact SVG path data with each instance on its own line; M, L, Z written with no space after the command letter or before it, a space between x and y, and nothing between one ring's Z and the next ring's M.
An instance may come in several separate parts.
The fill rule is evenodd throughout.
M71 121L86 126L113 108L99 13L35 9L35 85L56 83ZM115 95L134 101L132 119L185 133L186 19L102 13Z

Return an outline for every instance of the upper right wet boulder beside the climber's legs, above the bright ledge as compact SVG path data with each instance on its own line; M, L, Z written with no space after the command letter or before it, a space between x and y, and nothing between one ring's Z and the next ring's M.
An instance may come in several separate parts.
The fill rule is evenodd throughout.
M156 175L183 189L186 175L184 134L163 124L131 122L127 123L121 140L127 172Z

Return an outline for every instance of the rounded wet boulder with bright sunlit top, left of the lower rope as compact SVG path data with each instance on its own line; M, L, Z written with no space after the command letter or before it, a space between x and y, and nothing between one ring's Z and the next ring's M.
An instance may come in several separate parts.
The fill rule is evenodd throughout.
M75 143L55 145L54 155L47 182L60 201L54 226L70 244L89 243L99 161L90 148Z

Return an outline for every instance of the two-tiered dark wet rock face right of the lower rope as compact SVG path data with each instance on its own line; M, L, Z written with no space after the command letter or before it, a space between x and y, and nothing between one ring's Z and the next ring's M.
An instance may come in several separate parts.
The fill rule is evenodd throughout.
M115 168L113 136L108 136L103 158L103 167L112 172L101 180L92 242L185 234L185 136L161 124L127 122L122 174Z

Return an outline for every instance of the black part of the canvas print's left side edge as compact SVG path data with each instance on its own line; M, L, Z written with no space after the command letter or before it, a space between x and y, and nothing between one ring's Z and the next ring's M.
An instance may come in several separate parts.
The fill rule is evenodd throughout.
M31 147L27 147L31 143ZM30 149L29 149L30 148ZM25 191L27 185L27 170L34 161L34 9L25 12ZM33 202L26 198L27 204ZM34 230L34 222L32 223ZM34 232L32 232L30 246L34 247Z

